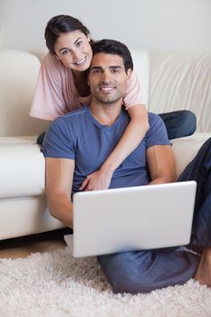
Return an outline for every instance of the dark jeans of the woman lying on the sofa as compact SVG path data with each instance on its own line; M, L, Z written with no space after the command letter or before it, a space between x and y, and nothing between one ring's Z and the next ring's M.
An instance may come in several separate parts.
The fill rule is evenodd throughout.
M195 114L189 110L178 110L173 112L159 113L160 118L164 121L168 139L176 139L187 137L197 129L197 118ZM43 144L45 132L41 133L36 142Z

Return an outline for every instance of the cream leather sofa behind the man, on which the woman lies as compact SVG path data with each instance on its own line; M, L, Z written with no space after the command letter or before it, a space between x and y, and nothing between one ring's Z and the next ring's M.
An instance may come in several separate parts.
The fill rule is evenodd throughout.
M197 114L197 133L172 140L178 175L211 136L211 55L132 54L149 110ZM0 240L63 227L46 206L44 159L36 145L49 123L28 115L39 67L32 53L0 50Z

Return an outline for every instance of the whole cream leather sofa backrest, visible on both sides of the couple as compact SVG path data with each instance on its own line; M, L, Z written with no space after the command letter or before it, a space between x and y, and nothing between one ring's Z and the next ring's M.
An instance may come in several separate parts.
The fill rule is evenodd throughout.
M42 60L44 53L35 54ZM192 110L197 130L211 131L210 53L131 53L148 110ZM0 49L0 137L38 135L49 125L28 114L40 69L37 56Z

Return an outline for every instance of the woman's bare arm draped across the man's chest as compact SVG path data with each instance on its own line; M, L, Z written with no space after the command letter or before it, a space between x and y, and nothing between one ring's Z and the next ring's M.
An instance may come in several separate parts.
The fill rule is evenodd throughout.
M113 172L124 159L137 148L146 132L149 130L148 112L145 105L139 104L129 108L129 125L124 131L116 148L110 153L99 170L88 175L83 181L81 190L107 189Z

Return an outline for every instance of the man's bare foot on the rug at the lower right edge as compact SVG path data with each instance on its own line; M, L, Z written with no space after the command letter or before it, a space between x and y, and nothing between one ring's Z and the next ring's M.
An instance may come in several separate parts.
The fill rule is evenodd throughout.
M200 284L211 287L211 247L204 248L194 279Z

